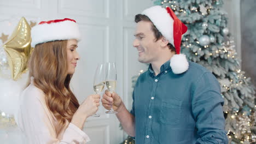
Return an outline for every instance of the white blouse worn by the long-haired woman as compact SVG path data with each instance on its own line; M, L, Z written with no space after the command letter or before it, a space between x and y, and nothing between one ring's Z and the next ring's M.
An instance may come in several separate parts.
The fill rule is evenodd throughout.
M83 130L67 120L60 134L56 135L57 121L44 97L43 91L33 85L31 77L31 84L20 95L18 112L18 125L26 143L82 144L90 141Z

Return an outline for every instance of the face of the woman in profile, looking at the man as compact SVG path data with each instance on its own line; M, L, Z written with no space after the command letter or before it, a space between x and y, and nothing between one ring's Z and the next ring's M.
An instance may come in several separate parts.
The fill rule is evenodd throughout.
M67 41L67 62L68 62L68 74L74 74L75 67L77 67L77 61L80 59L77 52L77 40L69 39Z

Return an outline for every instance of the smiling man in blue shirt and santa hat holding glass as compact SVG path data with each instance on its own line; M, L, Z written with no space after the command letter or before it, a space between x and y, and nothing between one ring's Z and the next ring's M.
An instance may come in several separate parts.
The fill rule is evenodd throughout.
M133 46L138 61L150 63L148 71L138 77L131 112L117 93L106 91L102 105L109 110L113 104L138 144L228 143L216 77L179 53L187 27L160 6L136 15L135 22Z

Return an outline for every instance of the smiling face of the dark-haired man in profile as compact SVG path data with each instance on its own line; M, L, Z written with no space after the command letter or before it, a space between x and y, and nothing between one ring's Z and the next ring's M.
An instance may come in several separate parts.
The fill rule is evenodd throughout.
M160 40L155 41L152 31L152 22L139 21L135 31L133 46L138 50L138 61L152 63L158 60L160 55Z

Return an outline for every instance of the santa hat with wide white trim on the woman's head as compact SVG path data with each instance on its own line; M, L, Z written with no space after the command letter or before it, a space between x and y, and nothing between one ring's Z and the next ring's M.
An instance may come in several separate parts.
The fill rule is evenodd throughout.
M42 21L31 30L31 46L54 40L80 40L78 24L72 19Z

